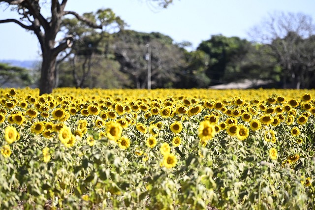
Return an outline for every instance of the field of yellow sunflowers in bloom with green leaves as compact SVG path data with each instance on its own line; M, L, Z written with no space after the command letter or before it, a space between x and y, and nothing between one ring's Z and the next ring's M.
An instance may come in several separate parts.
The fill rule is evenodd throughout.
M0 209L315 209L314 95L0 89Z

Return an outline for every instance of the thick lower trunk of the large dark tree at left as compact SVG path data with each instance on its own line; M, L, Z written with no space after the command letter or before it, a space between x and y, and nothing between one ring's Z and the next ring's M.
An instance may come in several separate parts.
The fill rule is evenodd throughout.
M39 95L51 93L55 87L55 71L57 57L52 54L52 50L43 52L43 62L41 64L41 76L39 83Z

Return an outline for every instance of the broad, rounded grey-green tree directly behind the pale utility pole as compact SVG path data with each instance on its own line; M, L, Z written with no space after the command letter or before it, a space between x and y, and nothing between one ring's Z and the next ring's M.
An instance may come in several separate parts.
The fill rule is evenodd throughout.
M177 72L185 65L182 48L173 44L172 38L158 32L118 32L111 48L121 64L121 71L133 80L132 88L148 87L148 64L152 70L152 88L173 87L179 81Z

